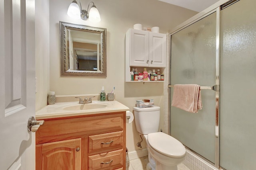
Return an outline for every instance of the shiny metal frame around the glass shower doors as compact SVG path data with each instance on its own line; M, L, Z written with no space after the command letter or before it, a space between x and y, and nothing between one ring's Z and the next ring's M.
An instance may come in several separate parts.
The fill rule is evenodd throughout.
M232 5L233 3L237 2L239 0L220 0L218 1L216 4L210 6L209 8L206 8L206 10L196 14L194 17L190 18L189 20L185 21L184 23L180 24L179 26L177 26L174 31L172 31L169 34L169 44L170 44L170 49L169 49L169 68L171 68L171 36L175 33L177 33L178 31L192 25L193 23L196 23L197 21L201 20L202 18L205 18L206 16L216 12L216 76L215 76L215 85L216 85L216 89L214 89L215 91L215 162L214 162L214 166L218 169L220 169L220 138L219 138L219 134L220 134L220 10L226 8L227 6ZM172 86L171 85L171 74L169 73L169 88ZM213 86L213 85L212 85ZM171 98L171 93L169 90L169 122L171 122L171 116L170 116L170 110L171 110L171 106L170 106L170 98ZM169 135L170 134L170 123L169 123ZM194 152L194 151L193 151ZM196 153L196 152L194 152ZM197 153L196 153L197 154ZM197 154L198 155L198 154ZM200 156L202 157L202 156ZM204 160L206 160L207 162L211 163L210 161L208 161L206 158L202 157Z

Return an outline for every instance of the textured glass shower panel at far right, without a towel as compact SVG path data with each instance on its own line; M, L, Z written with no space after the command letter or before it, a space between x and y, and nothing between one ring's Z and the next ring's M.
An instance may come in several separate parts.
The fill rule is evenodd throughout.
M256 1L220 15L220 166L256 168Z

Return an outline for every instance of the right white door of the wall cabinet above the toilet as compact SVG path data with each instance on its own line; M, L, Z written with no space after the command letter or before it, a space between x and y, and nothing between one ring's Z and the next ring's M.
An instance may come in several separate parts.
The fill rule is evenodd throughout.
M149 32L149 66L166 66L166 34Z

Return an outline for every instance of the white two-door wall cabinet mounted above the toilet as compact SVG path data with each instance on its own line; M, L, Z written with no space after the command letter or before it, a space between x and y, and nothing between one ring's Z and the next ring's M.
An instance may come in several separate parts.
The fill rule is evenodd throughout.
M131 67L160 69L166 67L166 34L128 29L126 32L126 82ZM148 70L148 69L147 69Z

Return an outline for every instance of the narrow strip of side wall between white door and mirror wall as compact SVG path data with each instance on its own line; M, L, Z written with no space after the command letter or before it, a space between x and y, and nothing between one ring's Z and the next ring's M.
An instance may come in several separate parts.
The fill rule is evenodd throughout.
M47 105L50 89L49 0L35 1L36 110Z

